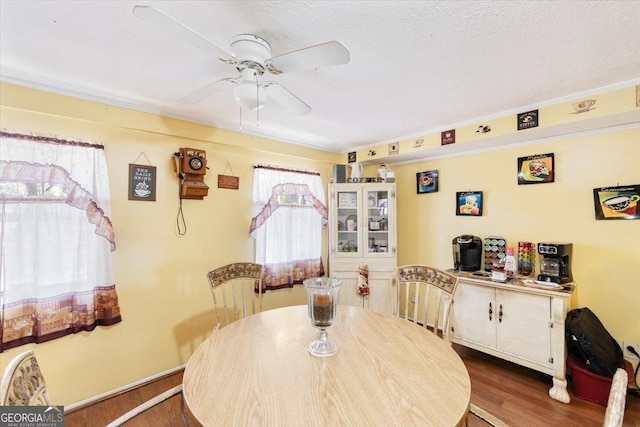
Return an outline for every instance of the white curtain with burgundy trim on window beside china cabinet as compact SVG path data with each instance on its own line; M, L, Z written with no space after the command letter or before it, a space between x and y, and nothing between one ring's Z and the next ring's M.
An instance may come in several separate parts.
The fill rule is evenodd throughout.
M322 228L328 212L319 173L256 166L252 216L256 262L265 266L263 289L324 274Z

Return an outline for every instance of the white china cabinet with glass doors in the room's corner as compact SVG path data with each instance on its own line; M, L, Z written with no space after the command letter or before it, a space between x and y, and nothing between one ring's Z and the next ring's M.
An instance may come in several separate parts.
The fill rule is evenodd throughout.
M369 269L369 295L358 295L358 270ZM341 304L395 310L394 183L329 185L329 274L342 280Z

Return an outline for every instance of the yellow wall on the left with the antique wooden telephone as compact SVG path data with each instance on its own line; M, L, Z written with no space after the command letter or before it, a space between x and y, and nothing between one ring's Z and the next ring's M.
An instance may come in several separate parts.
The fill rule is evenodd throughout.
M13 356L33 348L54 403L60 405L186 363L215 325L206 272L255 259L249 237L253 166L317 170L328 183L338 160L334 153L9 84L2 84L0 96L2 128L105 145L117 245L113 265L123 321L0 354L4 369ZM209 195L202 201L183 201L185 236L176 230L178 179L170 163L180 147L206 150L210 167L205 178ZM128 200L128 167L146 163L141 153L157 167L155 202ZM239 190L217 188L217 176L227 162L240 177ZM300 287L270 291L265 308L304 303L302 292Z

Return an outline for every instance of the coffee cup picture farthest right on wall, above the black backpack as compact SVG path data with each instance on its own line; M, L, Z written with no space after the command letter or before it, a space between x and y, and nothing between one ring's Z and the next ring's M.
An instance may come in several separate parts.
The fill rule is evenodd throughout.
M640 185L593 189L596 219L640 219Z

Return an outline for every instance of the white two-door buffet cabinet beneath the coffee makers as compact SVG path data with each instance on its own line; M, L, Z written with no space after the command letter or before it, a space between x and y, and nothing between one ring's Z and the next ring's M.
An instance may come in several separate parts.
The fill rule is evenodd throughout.
M451 341L553 376L549 396L569 403L564 319L571 290L505 284L459 273Z

